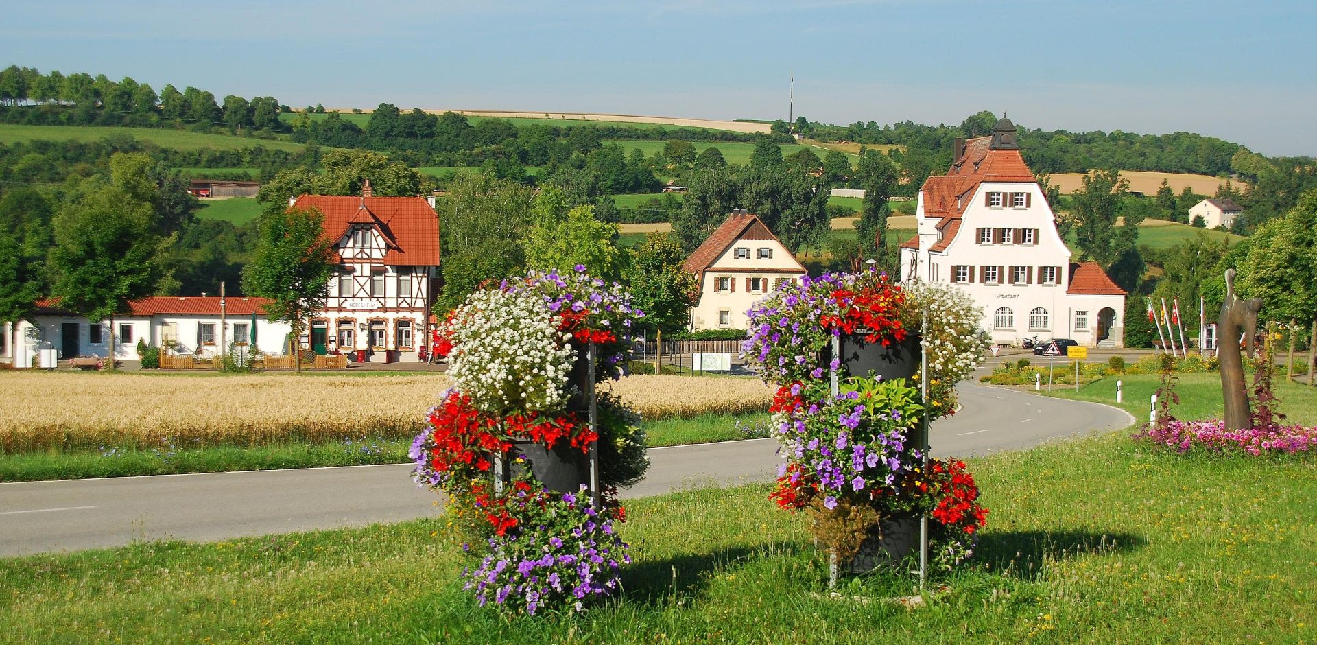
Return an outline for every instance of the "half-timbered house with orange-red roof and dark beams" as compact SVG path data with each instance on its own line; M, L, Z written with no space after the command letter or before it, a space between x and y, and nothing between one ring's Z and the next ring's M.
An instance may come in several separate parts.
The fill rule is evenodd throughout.
M366 182L360 197L303 195L288 204L324 215L338 262L303 348L353 351L361 362L419 359L439 282L433 197L375 197Z

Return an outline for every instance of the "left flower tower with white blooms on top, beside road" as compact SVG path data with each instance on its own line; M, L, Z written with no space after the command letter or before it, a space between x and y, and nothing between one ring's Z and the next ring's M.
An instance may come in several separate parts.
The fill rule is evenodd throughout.
M465 588L477 602L511 612L581 611L585 602L618 588L630 562L615 524L626 511L610 491L635 483L649 466L639 416L608 394L597 395L598 423L582 409L585 373L574 369L595 344L595 379L616 378L630 351L626 330L644 313L618 284L532 271L481 290L440 325L436 345L448 350L454 388L427 415L411 458L414 478L448 496L450 536L481 558ZM577 365L577 367L579 367ZM552 454L527 452L537 444ZM540 467L577 470L598 446L599 505L593 495L549 490ZM576 455L569 459L562 455ZM502 480L497 459L522 474ZM556 462L553 459L562 459ZM557 475L554 475L557 477ZM581 479L576 479L579 482Z

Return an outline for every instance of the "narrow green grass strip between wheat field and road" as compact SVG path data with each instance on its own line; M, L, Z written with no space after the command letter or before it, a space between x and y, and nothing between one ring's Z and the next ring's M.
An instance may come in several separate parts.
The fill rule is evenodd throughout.
M645 420L647 445L658 448L749 438L738 421L764 426L768 413L705 413ZM328 444L290 441L258 446L188 446L170 441L154 449L101 446L97 450L0 454L0 482L406 463L411 437L379 434L365 429L358 436Z

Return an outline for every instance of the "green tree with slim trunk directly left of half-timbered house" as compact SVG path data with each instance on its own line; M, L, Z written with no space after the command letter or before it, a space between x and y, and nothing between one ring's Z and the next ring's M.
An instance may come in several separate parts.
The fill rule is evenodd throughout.
M261 221L255 255L242 271L242 290L266 297L271 321L292 325L292 365L302 371L298 338L311 313L324 309L333 275L333 242L324 234L324 215L315 208L287 208Z

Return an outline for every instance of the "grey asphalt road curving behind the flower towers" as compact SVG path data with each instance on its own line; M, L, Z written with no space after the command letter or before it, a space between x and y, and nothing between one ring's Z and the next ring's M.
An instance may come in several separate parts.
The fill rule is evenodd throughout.
M960 386L963 408L932 424L935 454L971 457L1129 426L1123 411L1027 392ZM649 452L648 477L626 496L772 480L774 440ZM0 555L120 546L133 540L213 541L360 527L436 515L411 466L124 477L0 484Z

